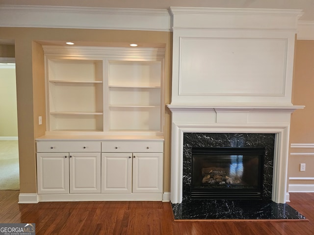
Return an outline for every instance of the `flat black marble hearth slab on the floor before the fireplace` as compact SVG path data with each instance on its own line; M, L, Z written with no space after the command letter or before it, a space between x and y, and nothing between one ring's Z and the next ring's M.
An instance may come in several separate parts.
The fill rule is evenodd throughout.
M288 204L272 201L184 200L172 204L174 218L182 219L306 219Z

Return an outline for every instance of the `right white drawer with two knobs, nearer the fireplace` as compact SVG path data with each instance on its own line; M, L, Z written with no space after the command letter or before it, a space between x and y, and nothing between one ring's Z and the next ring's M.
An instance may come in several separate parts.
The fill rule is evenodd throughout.
M105 141L102 152L163 152L161 141Z

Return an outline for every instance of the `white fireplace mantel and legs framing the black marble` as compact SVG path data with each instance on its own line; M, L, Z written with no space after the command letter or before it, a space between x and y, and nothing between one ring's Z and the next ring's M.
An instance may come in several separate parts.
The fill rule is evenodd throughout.
M274 134L270 198L286 203L290 115L303 106L168 105L172 112L171 202L183 200L184 133Z

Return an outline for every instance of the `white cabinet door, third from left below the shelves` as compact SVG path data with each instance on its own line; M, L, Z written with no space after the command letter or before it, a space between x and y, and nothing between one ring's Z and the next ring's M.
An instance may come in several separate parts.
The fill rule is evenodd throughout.
M102 153L102 193L131 193L131 153Z

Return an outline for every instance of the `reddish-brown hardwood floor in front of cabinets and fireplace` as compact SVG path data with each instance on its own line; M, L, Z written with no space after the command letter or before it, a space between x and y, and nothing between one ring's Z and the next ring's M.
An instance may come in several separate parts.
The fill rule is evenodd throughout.
M308 220L173 220L170 203L41 202L18 204L18 190L0 191L0 223L35 223L36 235L313 235L314 193L290 193Z

